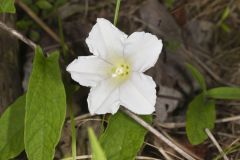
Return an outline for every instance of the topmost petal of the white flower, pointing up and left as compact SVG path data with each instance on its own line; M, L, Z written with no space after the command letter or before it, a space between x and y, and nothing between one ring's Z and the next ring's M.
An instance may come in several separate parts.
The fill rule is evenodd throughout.
M91 53L111 62L115 57L122 57L123 43L126 38L127 35L111 22L98 18L86 43Z

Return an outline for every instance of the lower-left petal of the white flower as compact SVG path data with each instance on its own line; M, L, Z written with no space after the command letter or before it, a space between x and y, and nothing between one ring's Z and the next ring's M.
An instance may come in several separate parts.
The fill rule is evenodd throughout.
M120 106L118 83L111 78L101 81L91 88L87 101L91 114L116 113Z

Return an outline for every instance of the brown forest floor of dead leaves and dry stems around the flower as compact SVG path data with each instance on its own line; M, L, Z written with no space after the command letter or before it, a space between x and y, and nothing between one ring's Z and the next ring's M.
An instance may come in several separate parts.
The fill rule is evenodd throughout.
M77 56L90 55L85 39L96 18L114 19L114 0L53 0L51 9L37 8L28 0L21 3L27 4L27 8L17 3L17 29L41 44L45 51L62 49L60 39L64 37L71 51L69 62ZM39 19L43 23L39 24ZM164 42L157 65L147 72L158 86L153 126L195 157L218 159L220 154L210 139L197 146L187 139L184 124L187 105L200 88L185 63L191 63L204 74L208 88L240 86L240 1L122 0L117 26L127 34L150 32ZM20 44L20 51L24 55L22 82L26 89L33 53L24 44ZM101 116L88 114L88 92L88 88L80 87L74 95L78 155L90 154L87 127L100 132L101 126ZM240 159L240 103L218 101L216 108L217 123L212 134L230 159ZM173 159L183 159L151 134L147 135L139 156L164 159L162 150L173 155ZM70 124L66 123L56 157L70 153Z

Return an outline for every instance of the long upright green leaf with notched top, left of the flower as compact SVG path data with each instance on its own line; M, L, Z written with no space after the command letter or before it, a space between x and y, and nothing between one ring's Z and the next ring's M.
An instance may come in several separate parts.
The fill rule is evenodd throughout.
M24 143L29 160L52 160L66 114L66 95L58 64L59 53L35 51L27 98Z

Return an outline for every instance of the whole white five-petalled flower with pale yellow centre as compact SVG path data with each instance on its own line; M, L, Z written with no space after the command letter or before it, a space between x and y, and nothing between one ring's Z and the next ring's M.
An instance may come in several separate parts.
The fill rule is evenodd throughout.
M90 113L114 114L120 105L136 114L154 112L156 84L143 72L155 65L162 41L145 32L127 36L99 18L86 43L93 55L78 57L67 71L79 84L92 87L87 100Z

